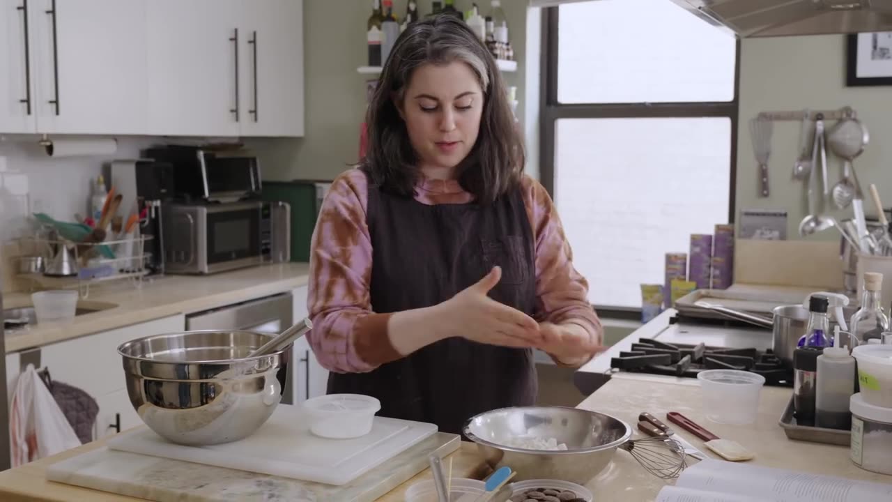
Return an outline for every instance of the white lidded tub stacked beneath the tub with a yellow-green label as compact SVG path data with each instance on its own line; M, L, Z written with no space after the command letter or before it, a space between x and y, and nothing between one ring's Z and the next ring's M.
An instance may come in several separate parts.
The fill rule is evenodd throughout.
M849 398L849 408L852 462L871 473L892 474L892 409L865 402L861 393Z

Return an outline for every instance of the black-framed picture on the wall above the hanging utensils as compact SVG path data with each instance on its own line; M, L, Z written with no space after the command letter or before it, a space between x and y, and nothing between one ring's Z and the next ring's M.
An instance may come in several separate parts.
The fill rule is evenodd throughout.
M846 85L892 86L892 31L848 35Z

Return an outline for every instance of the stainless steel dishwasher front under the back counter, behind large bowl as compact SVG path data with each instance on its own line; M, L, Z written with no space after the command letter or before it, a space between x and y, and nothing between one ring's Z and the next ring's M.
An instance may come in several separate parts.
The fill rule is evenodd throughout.
M186 315L186 330L248 330L278 334L293 324L293 295L282 293L239 304L225 305ZM294 378L291 361L282 392L282 403L293 405Z

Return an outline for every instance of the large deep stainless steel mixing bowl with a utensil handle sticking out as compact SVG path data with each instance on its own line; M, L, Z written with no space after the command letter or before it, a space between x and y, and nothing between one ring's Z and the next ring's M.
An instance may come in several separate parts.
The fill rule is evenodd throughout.
M274 335L195 330L153 335L118 347L130 403L163 438L194 446L244 439L276 409L289 345L248 357Z

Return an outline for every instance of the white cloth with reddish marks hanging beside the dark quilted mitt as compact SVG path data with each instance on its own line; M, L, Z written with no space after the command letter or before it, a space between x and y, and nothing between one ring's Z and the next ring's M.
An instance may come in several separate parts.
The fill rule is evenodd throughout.
M21 372L10 402L12 467L80 446L80 439L33 364Z

